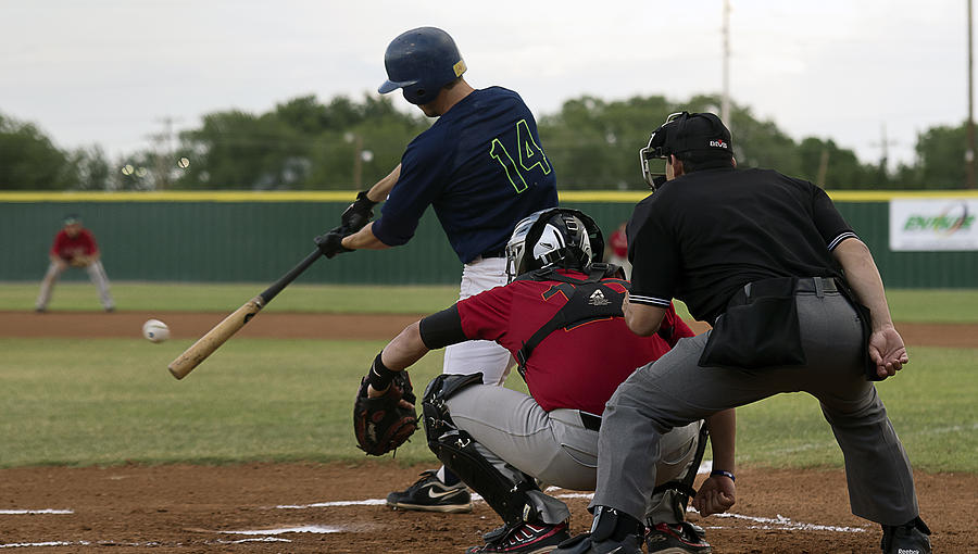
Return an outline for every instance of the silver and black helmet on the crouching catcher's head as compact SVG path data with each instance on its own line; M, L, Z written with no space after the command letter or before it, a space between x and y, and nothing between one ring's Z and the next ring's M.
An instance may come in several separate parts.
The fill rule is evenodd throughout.
M604 238L593 219L577 210L540 210L516 224L506 244L506 277L548 266L586 272L604 256Z

